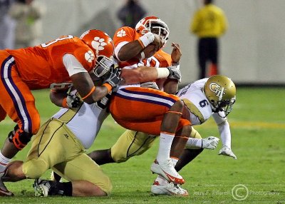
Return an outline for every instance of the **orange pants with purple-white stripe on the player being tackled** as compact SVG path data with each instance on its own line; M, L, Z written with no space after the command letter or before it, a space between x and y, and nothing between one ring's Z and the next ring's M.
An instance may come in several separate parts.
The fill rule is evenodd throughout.
M178 96L153 88L128 87L113 93L109 108L120 126L159 136L163 116L178 100ZM187 125L190 121L181 118L177 130Z

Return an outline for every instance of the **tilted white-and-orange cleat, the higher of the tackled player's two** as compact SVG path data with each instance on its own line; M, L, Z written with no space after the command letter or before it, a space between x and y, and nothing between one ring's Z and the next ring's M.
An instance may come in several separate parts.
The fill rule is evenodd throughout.
M177 171L173 167L170 158L167 159L165 163L158 163L157 160L155 160L155 162L152 163L150 170L152 171L152 173L157 173L158 175L161 175L170 183L171 182L179 184L185 183L185 180L182 178L182 176L179 173L177 173Z

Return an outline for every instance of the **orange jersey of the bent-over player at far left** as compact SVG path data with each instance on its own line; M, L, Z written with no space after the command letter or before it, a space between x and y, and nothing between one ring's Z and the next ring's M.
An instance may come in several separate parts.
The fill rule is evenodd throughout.
M6 51L14 57L19 76L31 90L71 82L63 65L63 55L66 53L75 56L86 71L91 71L95 66L95 59L88 62L86 57L86 53L92 50L75 36L61 36L39 46Z

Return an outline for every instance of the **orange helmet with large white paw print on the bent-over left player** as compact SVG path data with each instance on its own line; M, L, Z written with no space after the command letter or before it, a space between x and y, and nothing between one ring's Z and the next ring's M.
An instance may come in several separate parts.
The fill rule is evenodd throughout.
M113 66L114 44L113 40L103 31L85 31L80 39L85 42L95 54L93 73L97 77L103 76Z

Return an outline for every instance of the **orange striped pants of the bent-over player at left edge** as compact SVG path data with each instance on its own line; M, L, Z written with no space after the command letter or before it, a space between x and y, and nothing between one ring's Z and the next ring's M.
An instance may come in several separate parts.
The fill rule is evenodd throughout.
M0 51L0 65L0 121L8 114L22 131L37 133L40 116L36 110L35 98L21 80L14 57L6 51Z

